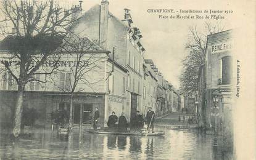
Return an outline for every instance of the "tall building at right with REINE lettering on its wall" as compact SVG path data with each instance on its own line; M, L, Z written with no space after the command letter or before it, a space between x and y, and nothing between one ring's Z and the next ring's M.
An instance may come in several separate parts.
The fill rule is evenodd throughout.
M226 30L207 36L206 64L199 72L199 126L215 129L223 135L227 146L233 143L234 106L234 37L233 30ZM213 103L213 93L218 93L218 103ZM215 124L215 116L217 124Z

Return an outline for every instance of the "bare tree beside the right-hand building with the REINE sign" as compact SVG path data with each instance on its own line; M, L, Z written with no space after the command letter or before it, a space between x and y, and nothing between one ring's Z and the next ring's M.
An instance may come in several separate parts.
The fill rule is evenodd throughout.
M221 22L205 22L205 31L198 31L196 26L189 28L188 42L185 49L189 54L183 60L183 72L180 76L181 90L186 95L194 95L197 91L199 68L205 64L207 35L220 32L224 29Z

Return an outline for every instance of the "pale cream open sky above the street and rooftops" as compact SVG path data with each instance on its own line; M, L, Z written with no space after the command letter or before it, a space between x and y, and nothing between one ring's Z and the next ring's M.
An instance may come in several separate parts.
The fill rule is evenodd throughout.
M79 4L78 0L60 0L59 2L64 7ZM101 0L83 0L83 12L100 3ZM139 28L143 36L141 43L146 49L145 58L152 59L164 78L178 89L180 87L179 76L182 71L181 62L189 52L184 50L185 44L188 42L189 26L195 25L199 31L205 32L205 20L162 19L159 18L159 15L170 14L152 14L148 13L147 10L232 10L231 4L236 5L228 1L218 0L207 3L201 0L109 0L109 11L122 20L124 17L123 9L130 9L133 26ZM220 23L220 20L210 22ZM229 22L229 15L226 15L225 20L221 20L221 23L226 26L225 30L233 28Z

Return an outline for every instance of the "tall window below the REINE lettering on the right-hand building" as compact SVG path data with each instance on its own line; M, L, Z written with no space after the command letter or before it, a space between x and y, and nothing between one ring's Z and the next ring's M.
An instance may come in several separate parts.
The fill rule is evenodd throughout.
M231 84L232 78L232 57L225 56L221 58L222 62L222 78L221 84Z

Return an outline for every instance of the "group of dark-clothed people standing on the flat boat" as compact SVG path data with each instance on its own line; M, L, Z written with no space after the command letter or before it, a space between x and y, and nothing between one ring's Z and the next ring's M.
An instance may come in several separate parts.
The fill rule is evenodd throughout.
M146 122L147 131L151 129L151 132L154 132L154 117L155 117L155 113L154 111L152 111L151 107L149 107L149 111L147 111L146 121L144 120L143 116L139 113L139 111L137 111L136 116L134 116L134 118L131 119L130 129L140 132L144 128L144 123ZM93 119L94 119L93 127L96 130L97 123L99 121L99 111L97 110L97 108L94 113ZM121 116L118 118L117 115L115 115L115 111L112 111L112 114L109 116L109 120L107 121L107 126L111 131L128 132L127 128L129 127L129 124L125 118L124 113L122 113Z

